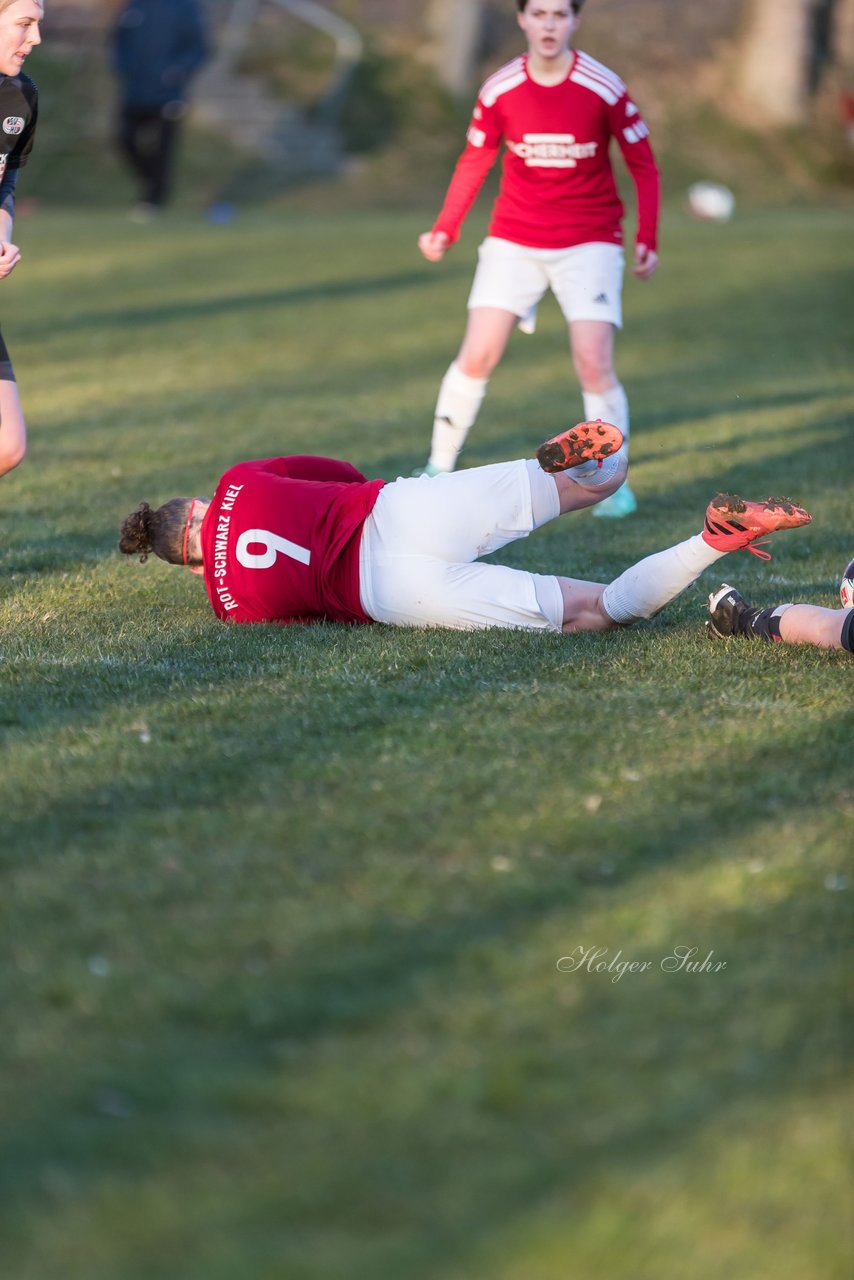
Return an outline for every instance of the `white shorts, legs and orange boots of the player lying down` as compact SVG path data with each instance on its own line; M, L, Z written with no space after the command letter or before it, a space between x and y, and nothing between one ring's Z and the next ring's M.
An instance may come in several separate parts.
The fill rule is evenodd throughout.
M607 631L654 617L727 552L755 549L762 535L810 520L787 499L718 494L702 534L645 557L607 586L478 563L562 511L597 502L585 468L613 462L621 440L609 424L579 424L539 451L547 465L563 466L556 475L520 461L387 485L362 531L365 612L397 626ZM621 458L612 486L624 475Z

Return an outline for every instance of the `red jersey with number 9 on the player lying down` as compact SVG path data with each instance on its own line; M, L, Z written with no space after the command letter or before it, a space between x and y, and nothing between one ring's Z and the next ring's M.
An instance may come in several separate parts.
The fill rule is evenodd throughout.
M201 529L214 613L232 622L370 622L359 549L384 483L333 458L265 458L227 471Z

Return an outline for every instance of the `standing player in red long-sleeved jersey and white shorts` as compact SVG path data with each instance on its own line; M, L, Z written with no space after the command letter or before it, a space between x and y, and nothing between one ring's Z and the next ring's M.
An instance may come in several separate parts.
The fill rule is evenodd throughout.
M517 0L528 54L480 90L442 212L419 238L428 261L444 256L503 143L501 191L479 251L462 347L439 390L426 475L453 471L513 326L533 332L536 305L549 288L568 324L584 416L629 435L626 393L613 367L613 335L622 324L624 207L611 140L638 193L632 274L641 280L658 265L658 169L624 82L570 49L583 4ZM624 485L594 515L626 516L635 507Z

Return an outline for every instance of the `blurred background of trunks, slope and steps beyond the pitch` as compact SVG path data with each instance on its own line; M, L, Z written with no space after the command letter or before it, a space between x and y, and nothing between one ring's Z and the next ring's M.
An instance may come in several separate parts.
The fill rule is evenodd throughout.
M120 0L50 0L23 210L120 205L109 32ZM522 47L512 0L202 0L174 202L417 207L438 198L480 79ZM665 191L740 204L854 189L854 0L588 0L576 44L629 83ZM620 168L620 166L617 166Z

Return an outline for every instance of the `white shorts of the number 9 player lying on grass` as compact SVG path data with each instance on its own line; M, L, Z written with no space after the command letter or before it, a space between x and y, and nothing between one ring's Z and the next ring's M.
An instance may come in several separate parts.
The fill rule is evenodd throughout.
M533 531L529 466L536 463L501 462L380 489L360 552L365 613L401 627L560 631L556 577L478 563Z

